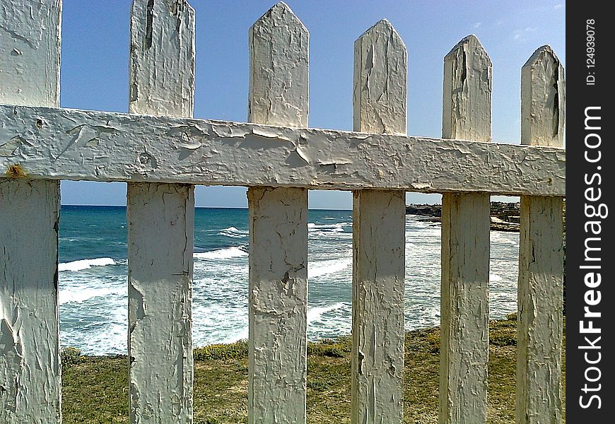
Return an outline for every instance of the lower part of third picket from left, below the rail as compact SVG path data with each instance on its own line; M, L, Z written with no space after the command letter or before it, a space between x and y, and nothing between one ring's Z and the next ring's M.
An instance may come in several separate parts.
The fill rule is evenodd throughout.
M307 190L250 187L248 422L305 423Z

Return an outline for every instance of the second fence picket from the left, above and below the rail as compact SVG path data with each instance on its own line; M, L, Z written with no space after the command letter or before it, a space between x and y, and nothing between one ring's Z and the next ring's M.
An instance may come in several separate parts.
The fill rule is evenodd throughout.
M129 112L192 117L194 10L134 0L130 23ZM130 420L192 423L194 186L129 183L127 214Z

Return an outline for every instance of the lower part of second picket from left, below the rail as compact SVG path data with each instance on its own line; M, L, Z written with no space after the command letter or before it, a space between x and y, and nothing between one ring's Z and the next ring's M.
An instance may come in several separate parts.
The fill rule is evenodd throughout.
M128 186L131 423L192 423L194 188Z

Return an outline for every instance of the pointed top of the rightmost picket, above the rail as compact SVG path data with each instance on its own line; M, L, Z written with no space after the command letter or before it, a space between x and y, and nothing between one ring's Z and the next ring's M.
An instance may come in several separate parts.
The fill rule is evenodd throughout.
M563 146L566 80L551 46L539 47L521 68L521 143Z

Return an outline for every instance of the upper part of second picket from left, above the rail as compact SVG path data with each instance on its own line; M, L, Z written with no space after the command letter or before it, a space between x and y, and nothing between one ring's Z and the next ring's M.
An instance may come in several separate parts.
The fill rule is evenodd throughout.
M129 112L192 117L194 8L186 0L134 0Z

